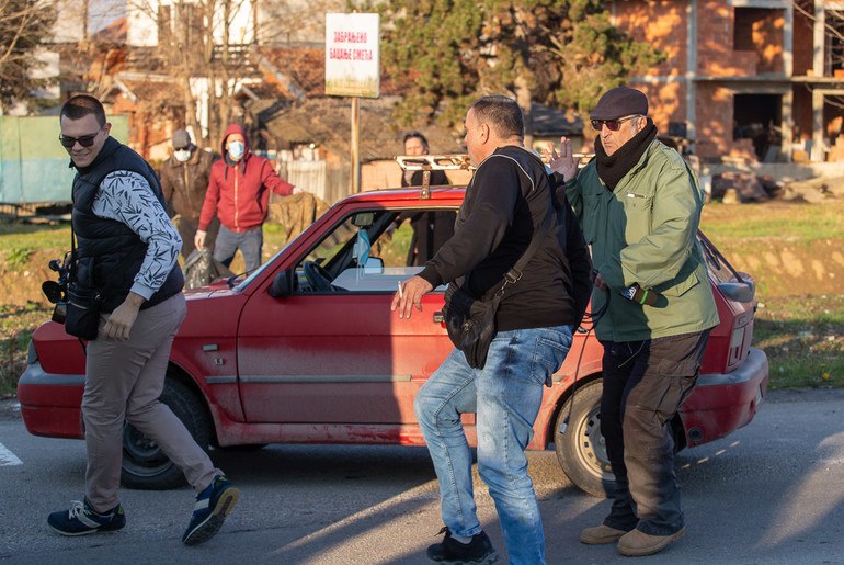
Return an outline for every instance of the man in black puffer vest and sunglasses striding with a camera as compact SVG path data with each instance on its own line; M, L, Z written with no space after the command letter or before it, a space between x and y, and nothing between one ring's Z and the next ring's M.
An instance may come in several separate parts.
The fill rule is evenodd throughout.
M82 419L88 449L85 497L47 523L62 535L122 529L117 497L124 420L155 441L185 474L196 504L182 536L209 540L238 489L170 408L159 402L170 347L184 319L182 240L164 212L161 185L144 159L113 137L99 100L77 95L61 106L59 140L77 169L73 284L102 296L100 328L88 342Z

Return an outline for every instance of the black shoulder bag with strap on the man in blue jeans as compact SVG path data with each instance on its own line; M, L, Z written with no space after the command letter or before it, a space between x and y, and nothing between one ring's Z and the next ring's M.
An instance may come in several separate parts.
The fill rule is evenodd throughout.
M454 281L448 284L445 291L445 306L443 306L445 329L454 347L466 355L469 366L483 369L487 364L487 353L495 335L495 313L504 296L504 289L522 278L522 272L531 257L550 231L555 216L554 207L549 208L539 233L531 240L531 245L518 258L516 264L501 280L501 287L490 300L476 298L457 286Z

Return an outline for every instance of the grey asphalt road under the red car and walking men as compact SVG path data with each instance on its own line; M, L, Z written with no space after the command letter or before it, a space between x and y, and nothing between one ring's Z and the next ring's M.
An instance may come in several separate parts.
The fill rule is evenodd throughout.
M423 448L215 451L241 498L216 538L185 547L190 489L124 489L123 531L62 538L45 520L81 498L83 442L30 436L4 402L0 443L3 564L417 564L440 541L436 479ZM844 563L842 391L772 393L748 427L678 454L686 535L650 557L579 543L608 502L573 488L552 451L532 452L529 461L550 564ZM482 483L476 490L483 527L506 563L492 500Z

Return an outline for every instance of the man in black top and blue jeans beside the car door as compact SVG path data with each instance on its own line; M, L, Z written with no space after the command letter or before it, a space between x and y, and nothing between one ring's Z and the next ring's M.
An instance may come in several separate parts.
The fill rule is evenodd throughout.
M524 122L505 97L478 99L466 114L466 145L477 170L455 235L404 281L392 301L399 317L422 309L422 295L449 282L488 298L515 265L548 214L551 229L523 276L509 284L482 369L455 349L417 394L414 409L440 479L445 538L427 549L436 563L498 558L478 521L471 451L460 415L477 413L478 472L501 519L510 563L544 563L545 536L524 450L550 384L569 352L590 294L591 263L570 206L550 188L538 155L525 149Z

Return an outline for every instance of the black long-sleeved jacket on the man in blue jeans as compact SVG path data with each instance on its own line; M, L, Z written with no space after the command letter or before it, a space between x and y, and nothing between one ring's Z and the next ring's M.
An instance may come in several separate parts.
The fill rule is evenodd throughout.
M455 235L420 276L433 286L455 281L489 297L539 231L548 210L557 222L522 279L507 285L495 318L499 331L578 327L591 294L591 261L580 225L559 202L539 157L524 147L498 148L480 163L457 214Z

